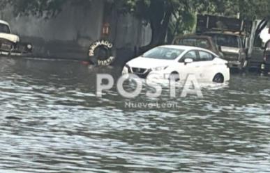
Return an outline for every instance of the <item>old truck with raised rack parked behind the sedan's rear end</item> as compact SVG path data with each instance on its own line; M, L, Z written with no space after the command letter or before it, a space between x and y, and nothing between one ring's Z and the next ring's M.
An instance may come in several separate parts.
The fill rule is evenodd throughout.
M208 35L218 44L230 67L244 69L248 65L248 39L252 22L211 15L197 16L197 34Z

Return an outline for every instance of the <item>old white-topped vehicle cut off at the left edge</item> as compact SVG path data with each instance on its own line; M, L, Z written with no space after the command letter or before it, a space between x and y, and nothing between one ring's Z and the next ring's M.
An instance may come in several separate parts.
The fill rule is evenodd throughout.
M32 44L20 42L20 37L11 33L10 25L0 20L0 55L21 56L32 49Z

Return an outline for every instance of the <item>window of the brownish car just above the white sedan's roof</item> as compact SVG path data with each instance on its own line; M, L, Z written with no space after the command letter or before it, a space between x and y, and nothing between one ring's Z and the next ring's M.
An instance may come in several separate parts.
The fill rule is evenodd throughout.
M175 40L174 44L190 46L190 47L201 47L204 49L210 48L210 43L207 39L202 38L182 38Z

